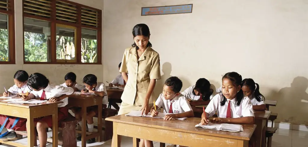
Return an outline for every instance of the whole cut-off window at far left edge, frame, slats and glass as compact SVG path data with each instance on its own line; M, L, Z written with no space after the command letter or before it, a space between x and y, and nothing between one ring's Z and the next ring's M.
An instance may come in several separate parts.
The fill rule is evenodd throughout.
M0 0L0 64L15 64L14 0Z

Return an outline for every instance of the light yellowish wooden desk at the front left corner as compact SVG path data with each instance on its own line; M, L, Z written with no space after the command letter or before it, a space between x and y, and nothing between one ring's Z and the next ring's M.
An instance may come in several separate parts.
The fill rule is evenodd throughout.
M23 145L13 141L0 141L1 143L13 146L34 146L34 118L52 115L52 146L58 146L58 104L63 102L44 102L41 104L13 104L2 102L0 99L0 114L9 115L19 118L26 118L27 123L27 142L28 145ZM48 111L47 111L48 110Z

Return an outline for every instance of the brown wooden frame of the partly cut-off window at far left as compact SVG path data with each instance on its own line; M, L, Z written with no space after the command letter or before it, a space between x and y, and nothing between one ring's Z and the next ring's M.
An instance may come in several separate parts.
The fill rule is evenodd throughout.
M8 4L11 5L8 8L10 10L0 10L0 13L8 16L8 34L9 34L9 61L0 61L0 64L16 64L15 61L15 11L14 0L8 0Z

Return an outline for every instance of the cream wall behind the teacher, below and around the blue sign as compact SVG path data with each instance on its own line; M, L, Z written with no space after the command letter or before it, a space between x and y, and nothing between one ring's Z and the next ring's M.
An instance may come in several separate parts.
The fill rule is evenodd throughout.
M192 14L141 16L141 7L191 3ZM236 71L278 100L270 107L277 122L308 125L307 14L304 0L104 0L103 79L119 74L133 26L146 23L160 54L156 94L171 75L184 90L201 77L219 87L222 75Z

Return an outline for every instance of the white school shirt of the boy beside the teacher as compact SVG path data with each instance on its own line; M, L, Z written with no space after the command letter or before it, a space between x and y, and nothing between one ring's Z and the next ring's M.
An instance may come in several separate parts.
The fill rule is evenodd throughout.
M188 100L182 94L174 97L171 101L166 100L164 95L161 93L155 102L157 108L163 106L164 113L169 113L170 104L172 103L173 113L184 113L193 110L189 105Z

